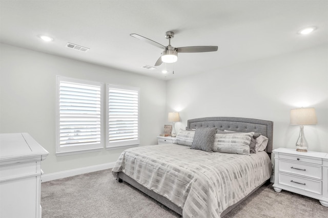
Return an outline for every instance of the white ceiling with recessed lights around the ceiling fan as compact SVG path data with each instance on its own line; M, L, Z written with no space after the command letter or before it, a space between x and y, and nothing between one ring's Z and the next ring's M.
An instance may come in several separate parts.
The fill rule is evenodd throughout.
M328 42L328 1L3 1L1 42L124 71L172 79L300 51ZM297 32L308 26L310 35ZM173 47L218 46L217 52L180 53L154 66L161 49L131 33ZM44 42L38 35L54 38ZM90 48L80 52L66 43Z

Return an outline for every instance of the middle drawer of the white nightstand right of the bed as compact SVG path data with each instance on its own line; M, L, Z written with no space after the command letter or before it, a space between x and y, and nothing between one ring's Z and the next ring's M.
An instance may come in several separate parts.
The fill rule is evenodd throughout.
M313 179L322 179L322 167L300 162L279 160L279 172L288 172Z

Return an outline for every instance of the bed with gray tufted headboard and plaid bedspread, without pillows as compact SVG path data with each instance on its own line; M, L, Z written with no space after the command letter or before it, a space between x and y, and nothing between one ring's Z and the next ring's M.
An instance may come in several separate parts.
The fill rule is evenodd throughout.
M188 120L187 129L259 133L264 151L240 155L206 152L179 144L130 148L112 169L125 181L183 217L222 217L270 181L273 122L250 118L208 117Z

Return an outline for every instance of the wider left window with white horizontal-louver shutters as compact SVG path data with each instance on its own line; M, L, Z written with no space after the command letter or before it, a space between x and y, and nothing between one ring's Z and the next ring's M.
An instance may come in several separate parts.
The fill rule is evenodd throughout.
M56 153L103 148L103 83L57 76Z

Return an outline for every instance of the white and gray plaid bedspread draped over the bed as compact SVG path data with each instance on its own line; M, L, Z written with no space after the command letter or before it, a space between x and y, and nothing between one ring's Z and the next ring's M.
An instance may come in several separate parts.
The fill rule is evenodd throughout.
M206 152L177 144L130 148L112 173L122 171L141 185L168 198L187 217L220 217L271 176L264 151L234 155Z

